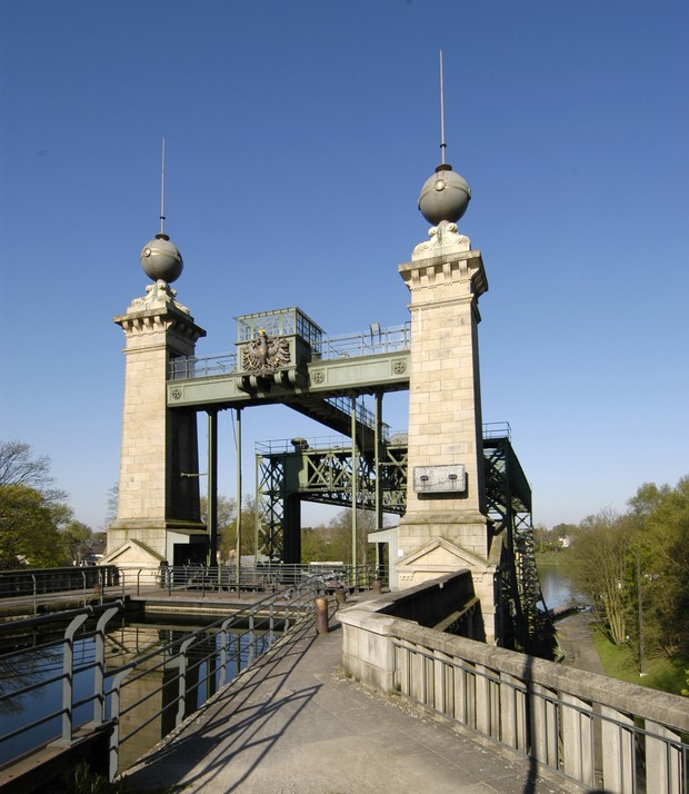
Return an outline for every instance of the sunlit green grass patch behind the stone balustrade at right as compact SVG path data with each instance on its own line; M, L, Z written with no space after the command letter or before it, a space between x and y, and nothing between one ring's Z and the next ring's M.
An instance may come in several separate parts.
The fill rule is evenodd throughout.
M645 659L646 675L639 675L638 653L629 645L613 645L602 632L593 632L593 643L606 675L651 689L681 694L687 688L689 659L673 656L655 656Z

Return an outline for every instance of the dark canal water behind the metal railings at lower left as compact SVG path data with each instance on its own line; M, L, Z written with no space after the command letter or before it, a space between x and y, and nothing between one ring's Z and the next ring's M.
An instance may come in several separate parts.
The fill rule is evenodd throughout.
M114 623L114 622L113 622ZM13 730L29 725L56 714L61 708L62 645L51 645L62 635L63 628L50 634L28 634L12 637L4 635L0 652L0 695L12 695L33 684L43 684L33 692L11 696L0 702L0 764L40 746L57 737L61 731L60 716L53 716L30 732L2 741ZM189 636L198 626L170 625L152 622L117 623L106 637L106 669L112 671L136 658L162 648L171 642ZM73 643L74 679L72 702L87 699L93 694L94 641L92 627L88 626L77 635ZM249 664L251 655L260 655L277 635L254 632L253 647L246 631L228 632L226 682L237 675L238 668ZM219 688L221 635L208 632L189 649L189 668L184 688L186 713L201 706ZM9 652L20 652L8 656ZM51 679L54 679L51 682ZM107 684L109 688L109 684ZM157 655L149 663L130 673L121 689L120 704L120 772L134 763L143 753L156 745L173 727L179 693L179 666L171 654ZM108 698L107 716L110 716L112 698ZM158 713L157 716L154 714ZM93 716L93 704L86 703L74 708L73 724L88 722ZM142 724L150 719L142 727ZM129 738L128 738L129 737Z

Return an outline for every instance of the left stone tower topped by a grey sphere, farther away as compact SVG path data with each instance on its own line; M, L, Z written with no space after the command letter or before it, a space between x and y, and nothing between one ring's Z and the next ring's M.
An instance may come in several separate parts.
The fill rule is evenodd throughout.
M206 331L169 286L183 265L163 221L161 212L160 234L141 252L154 284L114 318L126 338L124 408L118 514L108 527L103 563L119 567L201 563L208 547L200 520L196 413L170 410L166 395L170 361L193 355Z

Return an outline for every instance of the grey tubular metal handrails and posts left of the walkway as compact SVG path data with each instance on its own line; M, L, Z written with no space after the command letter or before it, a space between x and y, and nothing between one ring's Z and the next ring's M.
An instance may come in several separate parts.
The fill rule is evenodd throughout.
M314 573L312 569L309 570L308 566L306 567L308 573L304 572L303 575L301 575L302 572L299 570L289 572L292 580L287 589L282 588L251 604L246 604L229 617L226 615L208 626L191 632L186 637L174 638L112 669L107 669L106 667L104 636L109 621L122 609L122 602L104 604L102 606L88 606L62 614L49 614L40 618L13 622L12 628L16 629L19 625L36 628L39 624L54 623L60 618L63 621L66 616L70 621L62 638L50 644L53 648L62 647L61 672L40 682L23 686L12 693L0 695L1 705L4 701L17 697L18 695L29 694L42 687L56 686L61 683L62 696L59 707L52 713L42 715L38 719L32 721L30 724L19 726L11 733L6 734L0 738L0 747L9 740L16 738L21 734L27 734L29 731L58 718L60 719L60 741L63 744L69 744L73 740L74 732L78 727L77 708L92 702L93 711L92 721L89 723L90 727L97 730L104 724L112 724L110 773L113 777L118 772L120 747L124 742L131 740L132 736L138 734L148 723L170 708L176 709L177 724L188 715L186 696L190 681L193 681L194 687L202 686L203 692L206 692L206 689L209 688L206 686L206 683L218 675L219 686L226 686L232 677L230 673L232 662L234 663L234 673L239 673L240 669L242 669L242 665L254 662L270 647L273 639L277 638L278 626L276 614L278 611L281 613L282 634L286 634L294 622L298 622L301 617L312 612L313 601L317 595L324 592L327 583L318 572ZM203 570L206 573L211 570L211 573L217 574L217 568ZM172 579L174 572L176 569L173 568L170 570L170 579ZM137 572L137 586L140 586L142 573L143 569ZM188 573L188 570L184 570L184 586L189 585L187 579ZM158 586L160 586L160 576ZM92 632L79 635L86 621L90 617L98 617L96 628ZM230 635L229 629L238 626L238 624L248 625L248 628L241 631L239 634ZM259 638L259 634L263 633L267 636L266 642ZM73 653L78 635L80 642L87 642L87 639L91 638L93 641L93 652L89 654L89 658L86 663L79 663ZM214 637L214 639L207 649L202 644L208 642L210 637ZM220 647L218 647L218 637L220 638ZM196 648L201 649L200 657L192 655L192 653L196 654ZM14 654L6 654L4 657L0 658L8 659L13 655L19 657L20 654L24 653L26 651L22 649L14 652ZM219 671L217 669L217 665L211 664L211 658L220 659ZM81 662L83 662L83 659ZM149 663L153 663L152 666ZM203 664L207 665L206 673L199 675L199 671ZM147 712L147 716L141 718L139 723L134 725L133 730L130 730L128 734L122 734L122 716L132 713L133 709L144 701L159 695L163 689L163 685L161 684L153 692L149 691L142 697L137 696L134 701L128 703L126 707L122 707L122 689L126 686L133 686L137 681L150 674L151 671L160 669L162 666L169 669L170 665L177 665L178 671L177 675L172 676L172 678L166 678L164 688L167 689L169 686L174 687L177 682L176 697L171 703L154 709L152 715ZM77 674L82 674L91 669L93 671L92 692L87 697L76 701L74 677ZM199 681L196 681L197 677ZM82 717L80 717L80 719L82 719Z

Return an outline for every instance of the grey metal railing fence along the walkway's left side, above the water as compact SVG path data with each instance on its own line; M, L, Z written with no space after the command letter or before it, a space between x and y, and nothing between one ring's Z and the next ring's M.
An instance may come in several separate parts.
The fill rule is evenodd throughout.
M184 586L191 584L192 579L189 578ZM69 621L59 638L37 644L30 649L33 655L51 658L50 667L42 671L40 681L24 683L26 677L12 674L12 671L26 667L27 648L0 655L0 671L10 673L2 681L0 708L24 696L40 696L49 687L61 689L59 707L6 733L0 738L0 752L11 746L13 741L37 732L37 728L50 723L54 725L58 719L60 733L52 738L62 744L71 743L80 725L87 722L94 731L110 725L109 767L113 778L118 771L122 771L119 768L120 757L126 743L134 740L149 723L162 716L170 730L178 726L204 702L204 693L212 694L224 686L266 653L274 639L309 616L313 611L314 598L323 593L324 586L322 576L303 576L279 592L236 609L229 617L224 616L126 664L111 667L106 663L106 634L109 622L123 609L121 601L12 622L0 627L0 633L7 634L10 631L16 633L21 628L44 627L58 621ZM86 631L89 619L91 624L96 623ZM84 647L84 644L89 645L89 652L76 654L77 647ZM149 686L144 694L140 694L138 683L146 676L150 679L156 671L164 672L159 685ZM88 694L79 696L74 683L84 676L92 679L92 685ZM163 688L167 699L159 706ZM190 691L193 691L193 697L190 697ZM129 693L128 697L124 697L126 692ZM89 715L86 715L84 709ZM146 716L137 717L137 714ZM126 723L127 730L123 728ZM34 748L43 744L44 737ZM26 753L27 750L23 746L21 752ZM141 748L138 754L146 750Z

